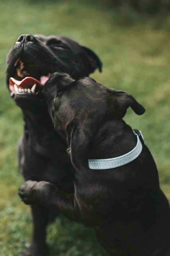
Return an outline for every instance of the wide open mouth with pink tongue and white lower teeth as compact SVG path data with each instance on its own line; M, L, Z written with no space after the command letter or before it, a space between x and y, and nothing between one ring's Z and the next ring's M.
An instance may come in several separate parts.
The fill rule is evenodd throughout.
M10 77L9 81L9 89L12 96L14 94L39 94L43 91L43 86L50 76L50 74L34 74L36 77L39 76L39 79L34 78L31 73L35 73L35 71L29 73L20 58L16 60L14 70L14 75Z

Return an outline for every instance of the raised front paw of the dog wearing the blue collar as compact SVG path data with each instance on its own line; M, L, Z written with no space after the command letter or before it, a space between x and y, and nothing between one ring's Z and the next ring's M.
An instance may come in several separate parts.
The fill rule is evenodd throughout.
M35 202L34 186L37 181L28 180L19 188L19 196L25 204L33 204Z

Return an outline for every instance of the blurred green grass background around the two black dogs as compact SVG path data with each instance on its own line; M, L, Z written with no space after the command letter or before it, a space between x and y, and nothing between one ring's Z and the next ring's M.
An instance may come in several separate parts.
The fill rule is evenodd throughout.
M170 201L170 0L0 0L0 255L19 256L29 246L31 215L18 197L20 109L5 84L6 55L20 34L59 34L91 48L103 72L97 82L132 94L143 116L125 121L143 132ZM58 218L48 227L51 255L105 256L94 231Z

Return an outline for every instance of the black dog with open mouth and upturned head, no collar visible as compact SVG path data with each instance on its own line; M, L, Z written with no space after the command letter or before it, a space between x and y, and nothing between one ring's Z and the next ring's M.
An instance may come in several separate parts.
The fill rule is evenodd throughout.
M73 192L73 167L66 142L54 130L43 95L49 74L65 72L73 78L88 76L102 64L96 54L64 36L21 35L7 57L6 82L25 121L18 161L25 180L45 180L65 192ZM46 254L45 228L55 212L32 206L33 239L24 256Z

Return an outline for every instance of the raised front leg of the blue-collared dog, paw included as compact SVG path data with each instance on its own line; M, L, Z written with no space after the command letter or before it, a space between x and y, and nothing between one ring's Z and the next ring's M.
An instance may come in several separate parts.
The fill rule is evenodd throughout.
M21 186L19 195L25 204L38 202L59 210L71 220L82 222L82 211L74 194L66 194L49 182L28 180Z

